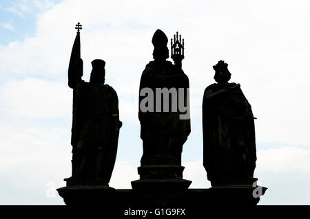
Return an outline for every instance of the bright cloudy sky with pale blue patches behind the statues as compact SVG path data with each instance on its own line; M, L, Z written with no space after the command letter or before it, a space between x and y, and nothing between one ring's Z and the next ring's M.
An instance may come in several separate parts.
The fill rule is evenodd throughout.
M260 205L310 205L309 1L0 1L0 205L64 205L71 175L68 64L81 30L83 80L105 60L123 127L110 186L131 188L142 155L138 84L157 29L185 39L192 132L182 154L190 188L203 168L201 105L212 66L229 64L256 119Z

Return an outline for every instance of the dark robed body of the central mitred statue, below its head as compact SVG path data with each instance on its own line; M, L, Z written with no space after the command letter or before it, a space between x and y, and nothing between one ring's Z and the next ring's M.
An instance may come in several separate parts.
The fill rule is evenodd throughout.
M186 90L189 89L189 80L183 70L178 69L172 62L151 61L142 73L139 93L143 88L150 88L154 93L154 112L143 112L139 108L138 118L143 140L141 166L180 165L183 144L190 133L190 119L180 119L183 112L172 111L171 96L169 112L156 112L156 88L176 88L177 90L183 88L185 92L181 101L186 106L189 98ZM143 98L139 97L139 104Z

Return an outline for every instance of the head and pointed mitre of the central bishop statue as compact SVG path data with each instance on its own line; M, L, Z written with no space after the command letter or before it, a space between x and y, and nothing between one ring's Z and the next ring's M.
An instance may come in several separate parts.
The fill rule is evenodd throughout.
M163 31L159 29L156 30L152 38L152 43L154 45L154 60L163 61L169 58L169 50L167 47L168 38Z

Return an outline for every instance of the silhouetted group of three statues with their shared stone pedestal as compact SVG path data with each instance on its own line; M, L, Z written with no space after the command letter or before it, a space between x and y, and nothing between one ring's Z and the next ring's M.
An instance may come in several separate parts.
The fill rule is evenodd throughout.
M118 98L104 84L103 60L92 61L90 82L81 80L80 23L76 30L68 71L73 89L72 177L66 179L66 187L57 189L66 205L92 207L85 211L88 216L96 209L104 216L111 214L110 218L139 216L141 211L140 216L156 218L156 209L165 210L159 218L169 218L174 215L169 215L170 210L177 208L178 213L186 211L186 215L176 214L180 218L201 218L209 209L245 209L258 203L267 188L251 184L256 180L254 117L240 85L228 83L230 73L223 61L214 66L218 83L207 87L203 99L204 165L212 187L188 189L192 182L183 179L181 166L183 144L190 133L189 80L182 70L184 41L177 32L171 44L172 64L167 61L167 36L161 30L152 38L154 61L141 76L140 179L131 182L133 189L109 187L121 128Z

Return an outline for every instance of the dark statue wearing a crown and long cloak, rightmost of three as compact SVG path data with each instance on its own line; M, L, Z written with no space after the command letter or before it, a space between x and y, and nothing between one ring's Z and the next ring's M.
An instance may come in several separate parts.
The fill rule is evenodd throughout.
M220 60L213 68L217 83L203 95L204 166L211 185L252 184L256 167L254 116L240 84Z

